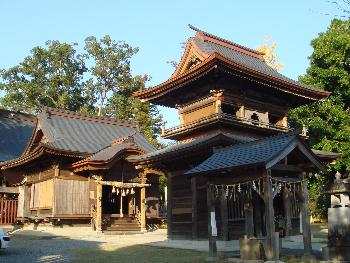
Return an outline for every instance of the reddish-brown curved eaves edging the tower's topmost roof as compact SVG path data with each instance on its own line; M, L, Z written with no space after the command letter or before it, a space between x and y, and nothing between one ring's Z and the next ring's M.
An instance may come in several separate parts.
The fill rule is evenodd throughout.
M292 83L290 81L270 76L260 71L242 66L238 63L233 62L232 60L223 57L218 53L213 53L202 63L183 74L180 74L174 78L170 78L169 80L153 88L147 89L145 91L135 92L133 95L142 99L143 101L153 100L153 102L157 104L156 100L158 98L172 91L175 91L190 82L193 82L199 77L208 74L213 69L217 69L218 66L228 67L230 70L236 70L240 73L245 73L250 77L260 80L262 84L272 84L273 88L275 89L302 97L304 99L308 99L310 101L316 101L331 95L331 92L307 88L302 85L297 85L296 83ZM162 103L159 104L163 105Z

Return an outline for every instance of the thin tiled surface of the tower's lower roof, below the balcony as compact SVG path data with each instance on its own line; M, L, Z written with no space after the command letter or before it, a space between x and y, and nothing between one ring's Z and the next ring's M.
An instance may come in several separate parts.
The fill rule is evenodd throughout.
M164 156L169 156L172 154L179 155L182 151L201 147L202 145L206 145L210 141L215 140L216 138L219 138L219 137L222 137L225 140L231 141L232 143L249 142L249 141L255 140L254 138L247 137L247 136L239 136L239 135L234 135L230 133L218 132L211 135L200 137L190 142L171 144L163 149L153 151L144 155L134 156L134 157L128 158L128 160L141 161L141 160L151 160L155 158L162 158Z

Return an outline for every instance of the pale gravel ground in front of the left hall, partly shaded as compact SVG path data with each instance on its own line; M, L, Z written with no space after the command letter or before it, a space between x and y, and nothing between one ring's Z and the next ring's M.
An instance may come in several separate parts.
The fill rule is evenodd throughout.
M108 236L84 228L25 229L11 236L8 249L0 250L0 263L71 262L74 249L145 244L164 240L165 233L159 230L146 234Z

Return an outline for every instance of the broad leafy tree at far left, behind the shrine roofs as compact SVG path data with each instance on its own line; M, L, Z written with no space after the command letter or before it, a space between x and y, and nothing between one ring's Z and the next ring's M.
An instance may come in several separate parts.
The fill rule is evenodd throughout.
M14 67L0 71L2 107L30 111L43 106L78 111L88 96L82 82L87 71L74 44L48 41Z

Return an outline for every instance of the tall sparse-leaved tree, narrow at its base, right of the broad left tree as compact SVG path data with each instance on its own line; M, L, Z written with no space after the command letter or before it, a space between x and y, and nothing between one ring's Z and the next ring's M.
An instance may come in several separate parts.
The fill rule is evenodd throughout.
M90 84L98 103L98 115L103 114L109 93L118 92L120 85L130 79L130 59L137 53L125 42L104 36L100 41L90 36L85 39L87 56L93 60Z

